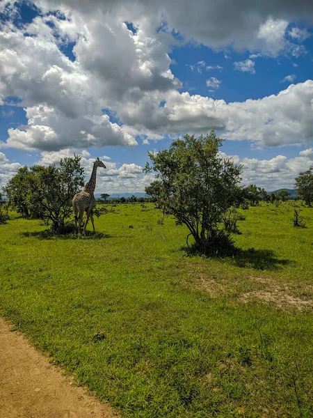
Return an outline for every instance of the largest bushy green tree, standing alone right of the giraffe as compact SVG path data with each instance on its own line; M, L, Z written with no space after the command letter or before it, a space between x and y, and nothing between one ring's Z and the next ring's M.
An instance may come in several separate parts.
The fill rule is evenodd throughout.
M241 194L241 166L218 155L222 142L214 130L205 137L186 134L168 150L148 153L152 166L145 167L157 173L161 206L187 226L198 249L210 254L230 242L220 222Z

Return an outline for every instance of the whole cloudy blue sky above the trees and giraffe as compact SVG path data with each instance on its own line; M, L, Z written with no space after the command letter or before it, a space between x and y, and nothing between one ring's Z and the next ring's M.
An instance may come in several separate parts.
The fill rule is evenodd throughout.
M148 150L212 128L243 183L313 165L308 1L4 0L0 22L0 186L81 153L106 162L97 192L143 192Z

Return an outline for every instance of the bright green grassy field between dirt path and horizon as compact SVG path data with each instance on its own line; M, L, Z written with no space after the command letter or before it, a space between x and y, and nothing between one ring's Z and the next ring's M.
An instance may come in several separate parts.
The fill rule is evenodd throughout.
M152 204L81 240L13 219L1 315L122 417L313 417L313 210L297 229L295 204L242 211L224 259L188 256Z

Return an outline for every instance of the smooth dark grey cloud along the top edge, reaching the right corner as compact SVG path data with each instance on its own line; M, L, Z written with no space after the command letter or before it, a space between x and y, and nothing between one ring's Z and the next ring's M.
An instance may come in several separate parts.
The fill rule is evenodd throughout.
M141 24L145 21L151 31L162 28L168 33L175 30L185 40L195 40L209 47L227 47L234 45L238 49L262 50L265 54L275 55L284 49L286 29L289 22L295 20L313 20L312 2L274 0L38 0L43 10L76 9L85 19L100 13L111 13L128 22ZM201 13L199 13L201 10ZM164 23L165 22L165 23Z

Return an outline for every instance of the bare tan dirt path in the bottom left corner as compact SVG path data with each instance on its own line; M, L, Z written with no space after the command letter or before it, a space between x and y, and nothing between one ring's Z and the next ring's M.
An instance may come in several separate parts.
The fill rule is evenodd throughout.
M10 328L0 318L1 418L117 417Z

